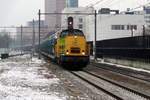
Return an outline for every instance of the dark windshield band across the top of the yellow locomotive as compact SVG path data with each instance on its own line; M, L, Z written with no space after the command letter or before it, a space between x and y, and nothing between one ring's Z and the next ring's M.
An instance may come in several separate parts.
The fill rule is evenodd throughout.
M73 29L73 30L64 30L61 32L61 37L65 37L65 36L84 36L83 32L77 29Z

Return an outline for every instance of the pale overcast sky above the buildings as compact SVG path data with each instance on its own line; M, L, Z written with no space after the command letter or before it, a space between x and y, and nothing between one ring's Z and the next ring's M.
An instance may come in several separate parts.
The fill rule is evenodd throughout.
M80 6L94 4L100 0L79 0ZM111 7L125 10L145 4L149 0L101 0L95 8ZM44 0L0 0L0 26L25 25L37 19L38 9L44 12Z

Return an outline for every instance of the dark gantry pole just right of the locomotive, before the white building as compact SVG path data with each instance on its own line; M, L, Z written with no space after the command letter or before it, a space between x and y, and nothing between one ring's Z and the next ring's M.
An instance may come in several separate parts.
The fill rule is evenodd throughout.
M95 14L94 14L94 17L95 17L95 34L94 34L94 42L93 42L93 50L94 50L94 60L96 61L97 60L97 54L96 54L96 41L97 41L97 12L95 10Z

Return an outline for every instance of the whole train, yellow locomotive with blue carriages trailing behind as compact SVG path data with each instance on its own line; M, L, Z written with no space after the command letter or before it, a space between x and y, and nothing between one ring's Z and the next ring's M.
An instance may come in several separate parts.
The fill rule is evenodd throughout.
M40 49L62 66L86 67L89 63L90 45L83 31L74 29L68 18L68 29L60 30L45 39Z

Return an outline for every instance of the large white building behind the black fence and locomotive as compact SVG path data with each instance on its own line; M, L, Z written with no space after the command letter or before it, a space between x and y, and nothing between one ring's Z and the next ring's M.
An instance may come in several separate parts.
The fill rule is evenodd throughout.
M97 14L97 40L123 38L143 35L144 14L141 12L122 13L118 10L99 12ZM102 10L101 10L102 11ZM93 13L93 15L64 15L62 27L67 28L67 18L74 18L74 28L83 30L88 41L94 40L95 17L93 8L65 8L63 13Z

